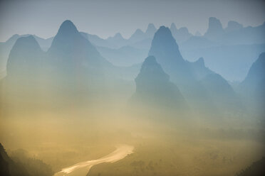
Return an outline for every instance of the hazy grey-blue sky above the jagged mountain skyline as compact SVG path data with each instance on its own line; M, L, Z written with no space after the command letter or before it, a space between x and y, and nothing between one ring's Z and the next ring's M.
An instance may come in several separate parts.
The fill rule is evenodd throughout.
M0 0L0 41L11 35L36 34L42 38L56 35L61 23L70 19L79 31L107 38L120 32L125 38L148 23L204 33L208 18L217 17L224 27L229 20L244 26L265 21L263 0Z

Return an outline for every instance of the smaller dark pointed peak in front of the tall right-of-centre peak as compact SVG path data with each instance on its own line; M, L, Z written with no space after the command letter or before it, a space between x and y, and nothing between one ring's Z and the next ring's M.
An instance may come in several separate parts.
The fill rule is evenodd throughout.
M185 100L180 90L170 82L170 77L149 56L142 63L139 75L135 78L136 92L133 101L143 106L160 106L168 108L183 108Z

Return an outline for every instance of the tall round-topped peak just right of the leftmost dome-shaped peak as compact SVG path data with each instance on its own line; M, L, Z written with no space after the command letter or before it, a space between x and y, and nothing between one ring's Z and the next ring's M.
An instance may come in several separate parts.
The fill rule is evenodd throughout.
M56 72L61 70L71 77L85 77L88 73L103 76L103 67L109 65L71 21L61 24L47 54L48 61L52 67L56 67Z

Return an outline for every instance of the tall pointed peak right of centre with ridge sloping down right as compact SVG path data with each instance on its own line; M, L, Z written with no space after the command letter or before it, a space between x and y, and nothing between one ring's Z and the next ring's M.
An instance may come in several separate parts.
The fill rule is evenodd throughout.
M227 89L227 92L224 93L227 96L226 102L231 102L233 105L236 104L234 102L238 102L234 90L228 82L205 67L202 58L197 62L187 62L183 59L169 28L162 26L155 33L149 55L156 57L162 69L170 75L172 82L180 88L183 96L194 109L204 109L204 111L211 109L214 111L213 109L218 106L219 109L225 109L222 104L214 104L215 101L219 101L219 87ZM214 87L215 85L218 87ZM233 95L231 101L229 95Z

